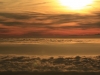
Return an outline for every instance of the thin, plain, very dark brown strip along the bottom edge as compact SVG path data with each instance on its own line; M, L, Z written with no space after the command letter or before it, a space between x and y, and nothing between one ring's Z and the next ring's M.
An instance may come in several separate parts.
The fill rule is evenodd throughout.
M100 75L100 72L0 72L0 75Z

